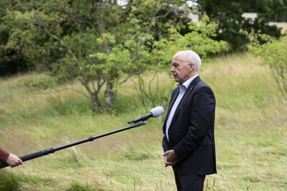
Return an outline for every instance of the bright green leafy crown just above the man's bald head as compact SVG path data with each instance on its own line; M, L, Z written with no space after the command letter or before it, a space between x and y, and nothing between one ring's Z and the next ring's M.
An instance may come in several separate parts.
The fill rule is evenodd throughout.
M192 30L181 35L176 29L169 29L169 36L162 38L159 42L154 43L155 53L163 63L171 62L172 56L180 51L190 49L197 52L202 59L207 59L208 55L227 51L227 43L224 41L216 41L211 37L215 35L216 24L209 23L206 16L204 20L198 24L189 22L188 28ZM158 49L158 50L155 50ZM167 51L166 51L167 50ZM170 53L167 57L167 53Z

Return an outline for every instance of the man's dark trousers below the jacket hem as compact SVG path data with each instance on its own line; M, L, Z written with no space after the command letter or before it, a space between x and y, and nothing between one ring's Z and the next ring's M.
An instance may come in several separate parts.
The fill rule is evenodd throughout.
M174 173L178 191L203 191L205 175Z

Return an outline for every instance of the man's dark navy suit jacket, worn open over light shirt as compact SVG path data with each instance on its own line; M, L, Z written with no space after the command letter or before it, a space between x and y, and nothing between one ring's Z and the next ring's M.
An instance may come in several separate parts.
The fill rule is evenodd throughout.
M170 110L179 95L179 87L171 96ZM166 133L166 122L163 133ZM199 76L186 89L169 128L169 139L164 135L164 152L174 149L180 161L173 166L179 174L208 175L216 173L215 164L215 96Z

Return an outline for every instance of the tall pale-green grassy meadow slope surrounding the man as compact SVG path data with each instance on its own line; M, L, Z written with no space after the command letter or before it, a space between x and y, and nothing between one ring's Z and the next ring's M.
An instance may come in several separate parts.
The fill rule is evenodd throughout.
M287 103L269 69L238 54L203 62L200 76L216 97L218 173L206 178L205 190L287 190ZM126 127L150 109L132 82L118 90L113 111L94 115L76 92L28 92L23 81L36 77L0 79L0 146L17 156ZM173 83L168 73L161 81L167 90ZM0 169L0 191L176 191L161 156L161 120Z

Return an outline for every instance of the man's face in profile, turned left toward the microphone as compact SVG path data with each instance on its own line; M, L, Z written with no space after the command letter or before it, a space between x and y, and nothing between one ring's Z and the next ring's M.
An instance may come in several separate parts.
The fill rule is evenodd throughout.
M190 64L186 65L182 58L183 54L176 54L172 60L171 72L175 78L175 81L179 84L183 84L186 80L191 78Z

